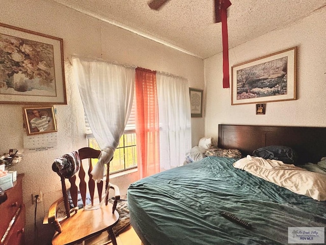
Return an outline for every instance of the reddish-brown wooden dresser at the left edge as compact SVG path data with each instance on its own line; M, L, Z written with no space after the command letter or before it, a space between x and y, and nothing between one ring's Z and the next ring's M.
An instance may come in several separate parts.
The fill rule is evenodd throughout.
M25 205L22 202L22 178L17 176L14 187L6 190L8 199L0 204L0 245L23 245Z

